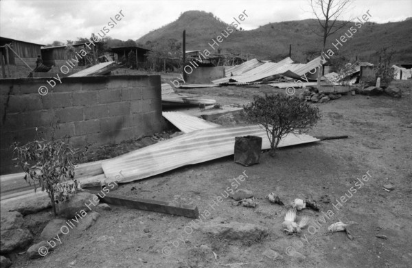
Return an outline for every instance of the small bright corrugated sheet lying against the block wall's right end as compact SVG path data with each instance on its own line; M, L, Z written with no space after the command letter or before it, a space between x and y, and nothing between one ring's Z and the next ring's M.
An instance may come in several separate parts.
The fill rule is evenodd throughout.
M168 119L170 123L172 123L177 128L179 128L179 130L185 133L221 126L200 119L198 117L193 117L192 115L185 114L184 112L162 112L161 114L165 119Z

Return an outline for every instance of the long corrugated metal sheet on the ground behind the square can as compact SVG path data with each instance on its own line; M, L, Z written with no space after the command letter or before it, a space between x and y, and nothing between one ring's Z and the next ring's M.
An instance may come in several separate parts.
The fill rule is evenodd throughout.
M185 165L230 156L234 152L235 137L247 135L262 137L262 149L270 148L266 130L259 125L214 127L183 134L118 156L104 162L102 168L106 178L115 178L116 175L119 177L119 172L122 171L124 177L120 182L141 180ZM290 134L282 139L279 147L314 141L319 139L308 135Z

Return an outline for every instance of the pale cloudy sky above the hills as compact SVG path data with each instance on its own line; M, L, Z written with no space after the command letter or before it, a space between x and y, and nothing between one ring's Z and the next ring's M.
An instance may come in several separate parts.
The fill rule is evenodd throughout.
M122 10L119 21L109 36L121 40L143 36L179 18L187 10L212 12L231 23L243 10L249 15L242 27L280 21L314 19L310 0L0 0L0 36L48 44L91 36L106 26L110 18ZM412 16L411 0L354 0L345 14L356 18L369 10L371 21L387 23L403 21Z

